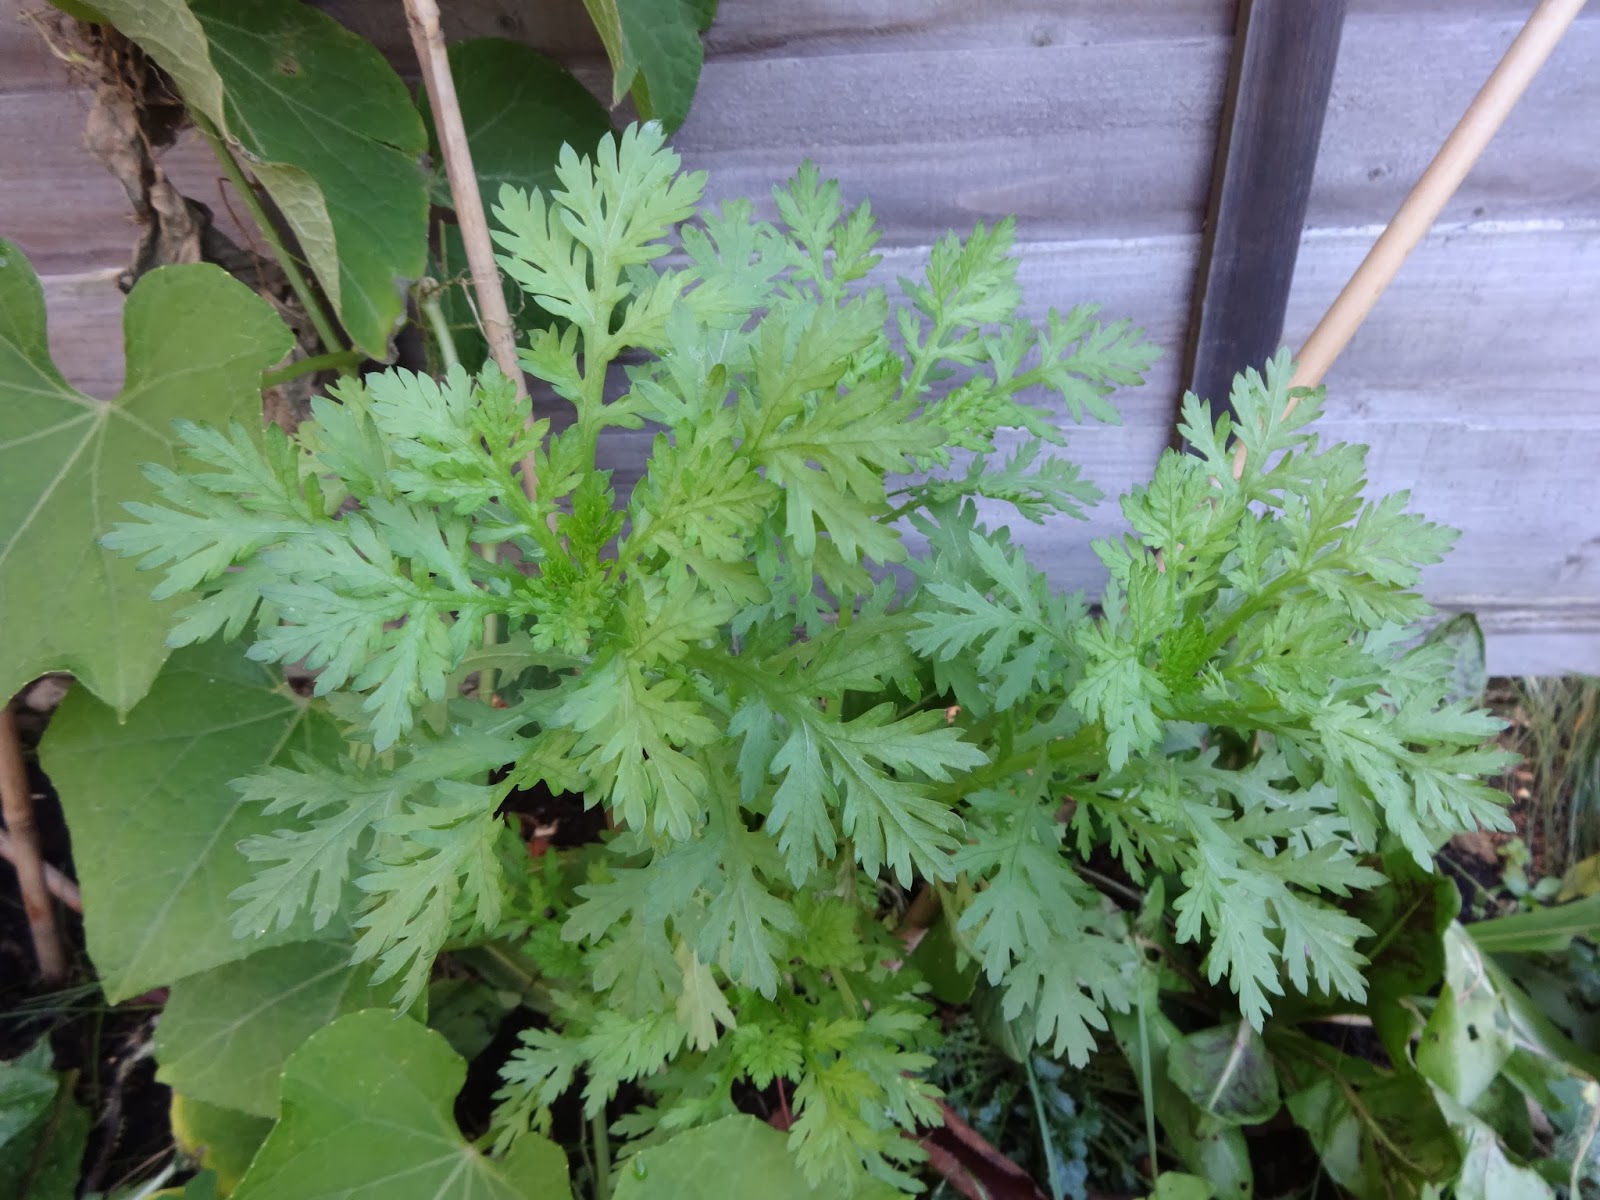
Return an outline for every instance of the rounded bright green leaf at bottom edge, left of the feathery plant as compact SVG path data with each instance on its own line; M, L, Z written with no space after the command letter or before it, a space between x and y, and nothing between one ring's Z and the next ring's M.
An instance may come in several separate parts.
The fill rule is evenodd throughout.
M350 1013L283 1067L283 1117L235 1200L557 1200L560 1147L533 1133L490 1160L456 1128L467 1064L387 1010ZM330 1136L338 1131L338 1136Z

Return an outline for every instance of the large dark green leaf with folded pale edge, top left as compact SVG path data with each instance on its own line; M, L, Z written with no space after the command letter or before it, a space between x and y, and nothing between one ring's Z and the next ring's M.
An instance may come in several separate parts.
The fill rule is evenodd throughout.
M344 328L374 358L426 266L427 147L405 83L298 0L107 0L288 221ZM187 342L186 342L187 344Z

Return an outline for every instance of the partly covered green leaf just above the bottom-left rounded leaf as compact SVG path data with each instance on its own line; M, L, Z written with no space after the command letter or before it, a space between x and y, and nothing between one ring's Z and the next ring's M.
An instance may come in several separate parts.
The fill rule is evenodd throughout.
M386 1002L366 976L347 946L298 942L181 979L155 1027L155 1077L208 1104L277 1117L278 1075L301 1042Z

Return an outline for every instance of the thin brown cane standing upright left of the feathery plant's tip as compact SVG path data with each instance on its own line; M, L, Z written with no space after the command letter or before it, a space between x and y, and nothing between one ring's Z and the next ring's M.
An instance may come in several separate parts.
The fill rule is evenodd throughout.
M467 130L461 120L461 104L456 99L456 80L450 74L450 51L438 24L435 0L405 0L405 19L411 30L411 46L427 102L434 110L434 128L438 131L438 149L445 157L445 174L450 178L450 195L456 202L456 222L467 248L467 266L472 270L472 290L478 298L478 315L483 336L490 344L490 357L501 373L517 386L517 398L528 398L528 384L517 363L517 333L501 290L499 267L494 266L494 243L490 240L490 222L483 214L483 197L478 194L478 176L472 170L472 149L467 146ZM523 488L533 498L538 478L533 459L522 464Z

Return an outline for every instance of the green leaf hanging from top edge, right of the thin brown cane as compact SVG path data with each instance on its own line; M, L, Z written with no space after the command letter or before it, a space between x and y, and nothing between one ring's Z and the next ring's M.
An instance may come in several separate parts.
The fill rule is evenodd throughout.
M701 30L714 5L706 0L584 0L611 59L611 104L634 93L645 120L667 131L690 114L706 48Z

